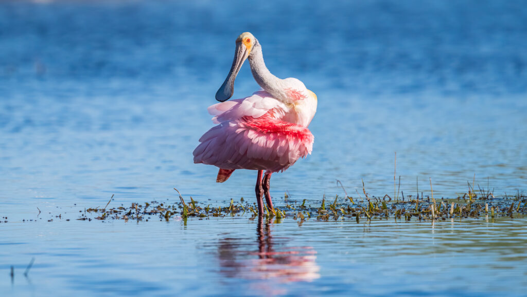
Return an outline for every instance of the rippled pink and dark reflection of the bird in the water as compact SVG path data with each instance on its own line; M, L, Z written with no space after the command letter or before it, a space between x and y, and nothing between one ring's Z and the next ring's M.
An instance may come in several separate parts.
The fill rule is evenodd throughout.
M240 242L241 239L221 240L219 260L222 273L229 278L272 280L272 283L318 279L320 267L315 262L317 257L313 247L284 247L288 239L273 238L271 226L270 220L259 216L256 229L258 251L252 244Z

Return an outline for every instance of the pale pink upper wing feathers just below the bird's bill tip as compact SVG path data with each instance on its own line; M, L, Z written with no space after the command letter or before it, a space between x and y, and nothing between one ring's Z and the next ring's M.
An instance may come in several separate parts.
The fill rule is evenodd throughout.
M214 104L208 110L209 114L214 116L212 118L214 124L220 124L221 122L241 119L246 116L259 118L280 104L282 103L279 100L271 97L266 91L260 90L252 94L252 96L243 99Z

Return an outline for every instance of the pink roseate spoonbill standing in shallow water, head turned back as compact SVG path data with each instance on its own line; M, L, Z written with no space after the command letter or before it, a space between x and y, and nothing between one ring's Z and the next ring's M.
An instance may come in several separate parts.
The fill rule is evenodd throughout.
M249 97L227 101L246 59L261 89ZM267 209L275 213L269 193L271 175L311 154L314 136L308 126L317 110L317 95L297 78L272 75L258 39L244 32L236 38L232 66L215 97L220 103L208 111L217 126L199 139L194 163L218 167L217 182L225 182L237 169L257 170L258 216L265 214L263 197Z

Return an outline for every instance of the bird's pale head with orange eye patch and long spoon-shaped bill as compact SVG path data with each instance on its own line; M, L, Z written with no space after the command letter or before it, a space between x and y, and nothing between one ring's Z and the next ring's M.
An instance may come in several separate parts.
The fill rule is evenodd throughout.
M225 81L216 92L216 100L223 102L227 101L234 93L234 81L240 71L241 65L249 57L253 46L256 44L256 38L249 32L243 32L236 38L236 50L234 53L234 60Z

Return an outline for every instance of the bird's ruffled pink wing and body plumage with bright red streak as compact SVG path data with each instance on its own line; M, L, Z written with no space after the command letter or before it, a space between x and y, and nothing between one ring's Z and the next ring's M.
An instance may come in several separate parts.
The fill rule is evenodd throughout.
M200 138L194 163L231 170L287 169L311 153L314 140L306 127L282 120L293 109L263 90L210 106L212 120L219 125Z

